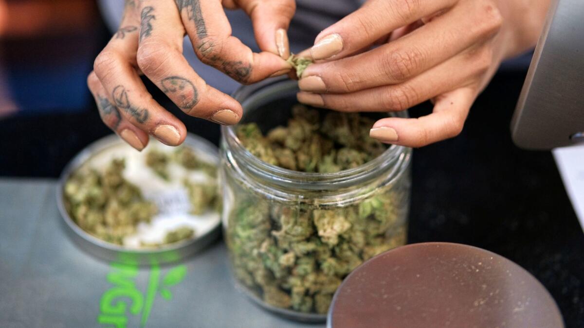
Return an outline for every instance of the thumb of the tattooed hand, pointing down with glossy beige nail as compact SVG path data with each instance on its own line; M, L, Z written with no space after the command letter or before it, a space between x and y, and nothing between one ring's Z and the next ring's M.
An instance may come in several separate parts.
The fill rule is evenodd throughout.
M262 51L290 57L286 30L296 12L294 0L240 0L239 6L248 13L258 46Z

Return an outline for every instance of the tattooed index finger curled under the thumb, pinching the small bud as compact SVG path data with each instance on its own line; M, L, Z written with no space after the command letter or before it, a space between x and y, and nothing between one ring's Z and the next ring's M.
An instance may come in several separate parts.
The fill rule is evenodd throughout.
M221 1L175 0L197 57L241 83L285 74L291 66L276 54L253 53L237 37Z

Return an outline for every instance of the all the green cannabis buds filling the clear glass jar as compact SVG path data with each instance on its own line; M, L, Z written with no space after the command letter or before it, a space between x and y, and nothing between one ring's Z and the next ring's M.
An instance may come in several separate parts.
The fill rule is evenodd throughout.
M255 123L237 137L264 162L301 172L356 168L387 149L369 137L374 121L358 113L296 105L287 126L266 135ZM234 185L235 186L235 185ZM342 279L363 261L404 245L407 193L385 187L342 207L318 194L296 203L269 199L238 184L225 239L238 280L263 301L298 312L326 313ZM309 199L310 198L310 199Z

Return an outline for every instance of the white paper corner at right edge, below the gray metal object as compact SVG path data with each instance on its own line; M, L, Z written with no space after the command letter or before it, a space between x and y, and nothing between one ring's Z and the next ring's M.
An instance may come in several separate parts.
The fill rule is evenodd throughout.
M556 148L552 153L580 226L584 229L584 145Z

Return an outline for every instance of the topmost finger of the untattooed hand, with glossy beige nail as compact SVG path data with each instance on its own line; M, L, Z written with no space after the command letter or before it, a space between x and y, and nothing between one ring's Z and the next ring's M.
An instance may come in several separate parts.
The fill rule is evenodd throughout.
M450 8L458 0L369 0L318 34L314 60L338 59L369 47L401 26Z

